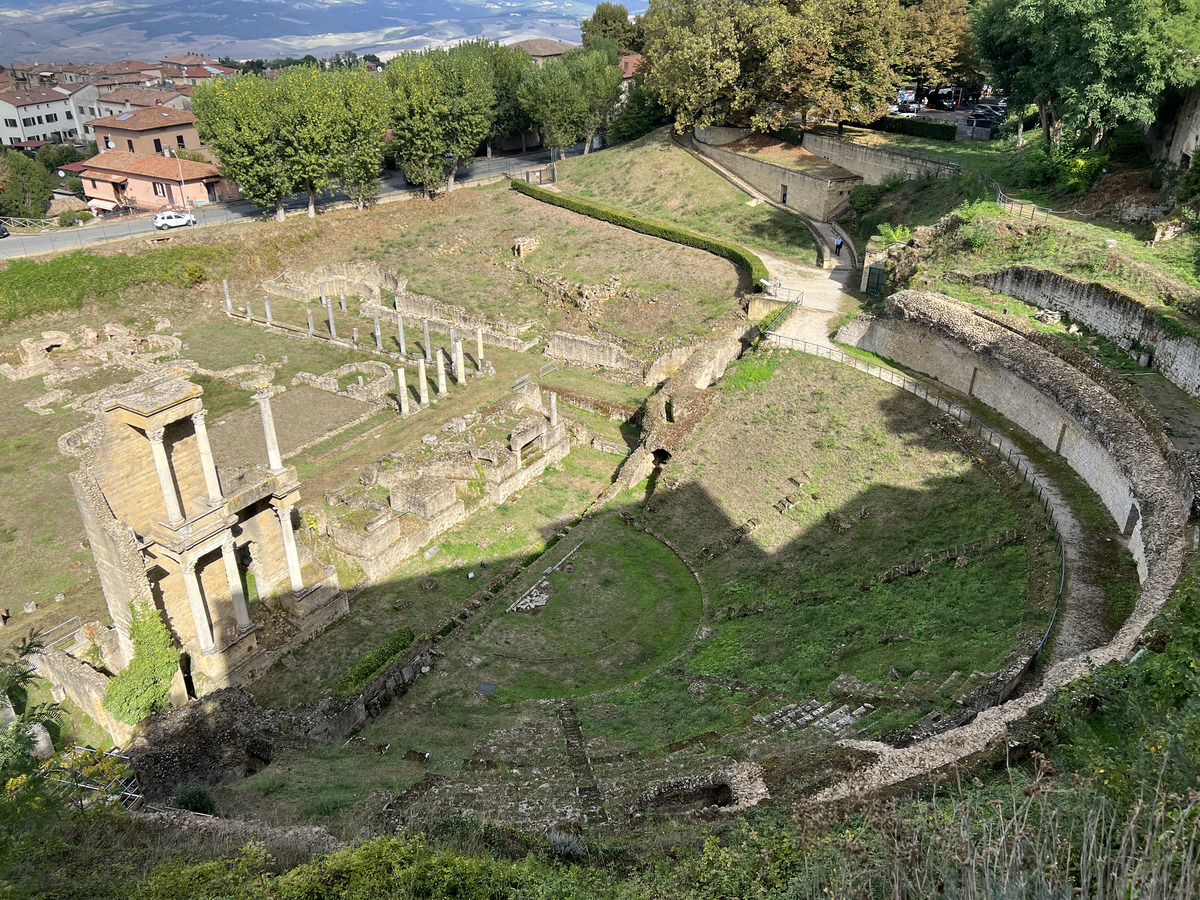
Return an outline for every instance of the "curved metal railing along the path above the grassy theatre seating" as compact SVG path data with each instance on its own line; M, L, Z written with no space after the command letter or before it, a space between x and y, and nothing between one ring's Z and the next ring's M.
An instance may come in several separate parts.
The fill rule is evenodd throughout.
M948 397L943 397L936 391L929 390L928 386L920 382L908 378L901 372L895 372L884 366L875 365L868 362L866 360L857 359L847 353L842 353L833 347L823 347L821 344L811 343L810 341L804 341L797 337L788 337L787 335L781 335L776 331L767 331L767 342L774 343L779 347L786 347L788 349L802 350L804 353L818 356L821 359L828 359L834 362L840 362L842 365L850 366L851 368L857 368L859 372L871 376L872 378L878 378L880 380L894 384L896 388L905 390L917 397L920 397L926 403L934 406L935 409L940 409L948 415L953 416L959 421L959 424L973 431L983 440L992 446L996 454L1003 457L1022 479L1033 488L1038 496L1038 503L1045 514L1046 524L1049 526L1055 542L1058 547L1058 588L1055 592L1054 607L1050 611L1050 622L1042 635L1042 640L1038 642L1038 648L1034 650L1033 655L1030 658L1026 668L1033 664L1042 652L1045 649L1046 642L1050 640L1050 634L1054 631L1055 623L1058 620L1058 604L1062 600L1062 592L1067 584L1067 550L1062 541L1062 530L1058 527L1058 516L1055 509L1054 497L1043 484L1042 479L1038 478L1033 467L1030 464L1028 458L1021 452L1010 440L1004 438L1000 432L989 427L974 415L971 414L965 407L955 403Z

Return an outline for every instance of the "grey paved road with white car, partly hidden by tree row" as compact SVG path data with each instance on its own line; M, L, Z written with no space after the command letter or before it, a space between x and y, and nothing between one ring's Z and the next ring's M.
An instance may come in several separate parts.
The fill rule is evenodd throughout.
M575 156L578 152L582 152L582 145L569 151L568 156ZM524 172L548 163L548 150L496 156L491 160L475 160L469 169L458 169L455 185L469 185L475 181L497 178L508 172ZM420 196L420 188L414 188L404 180L403 175L394 173L391 176L384 179L379 191L379 202L394 203L413 196ZM322 205L341 203L346 199L344 194L340 192L326 191L318 197L318 210ZM294 214L307 209L308 200L306 196L298 194L288 198L283 205L289 214ZM222 222L251 222L262 218L264 215L263 210L248 200L197 206L193 212L196 212L198 228ZM53 229L42 234L18 234L14 232L11 236L0 240L0 259L14 259L38 253L73 250L89 244L100 244L124 238L149 238L150 235L162 236L170 234L169 232L155 232L152 218L152 215L146 214L115 220L94 220L78 228Z

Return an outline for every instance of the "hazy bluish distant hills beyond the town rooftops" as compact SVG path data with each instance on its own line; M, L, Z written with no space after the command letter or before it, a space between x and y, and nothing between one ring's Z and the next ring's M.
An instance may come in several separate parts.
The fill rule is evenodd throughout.
M0 0L0 62L156 60L185 49L234 59L341 50L386 58L481 36L577 42L593 7L575 0Z

